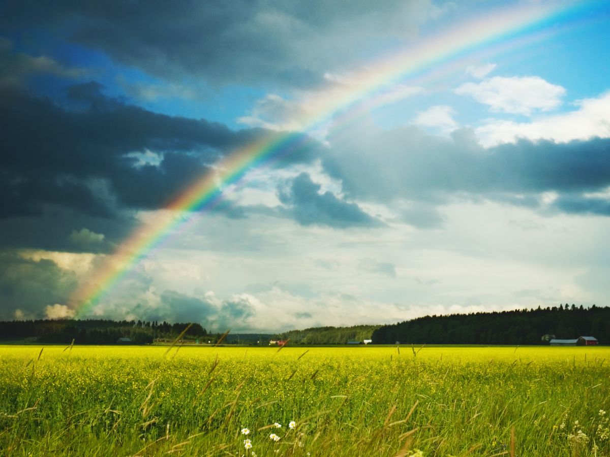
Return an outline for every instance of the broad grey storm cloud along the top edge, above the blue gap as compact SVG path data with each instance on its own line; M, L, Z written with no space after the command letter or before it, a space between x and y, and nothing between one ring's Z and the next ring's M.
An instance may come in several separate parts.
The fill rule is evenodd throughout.
M368 41L412 34L428 4L9 0L0 27L30 41L39 35L29 28L45 30L162 77L303 87L359 57Z

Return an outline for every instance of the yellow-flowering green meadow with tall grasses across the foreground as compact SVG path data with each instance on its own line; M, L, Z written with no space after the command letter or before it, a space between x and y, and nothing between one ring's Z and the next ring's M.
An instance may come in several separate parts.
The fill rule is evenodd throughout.
M0 346L0 455L609 456L608 359L606 347Z

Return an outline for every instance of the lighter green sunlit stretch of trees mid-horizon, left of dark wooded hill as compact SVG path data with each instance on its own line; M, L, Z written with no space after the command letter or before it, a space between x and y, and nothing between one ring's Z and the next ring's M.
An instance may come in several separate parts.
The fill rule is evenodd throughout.
M290 344L346 344L348 341L371 339L379 325L354 325L353 327L314 327L290 330L278 334L278 339L290 339Z

